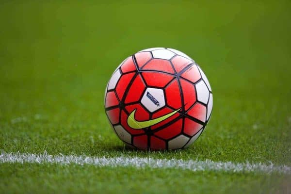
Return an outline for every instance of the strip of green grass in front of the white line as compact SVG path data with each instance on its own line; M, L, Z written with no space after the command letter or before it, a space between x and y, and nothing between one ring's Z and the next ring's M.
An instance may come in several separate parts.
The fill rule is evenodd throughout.
M6 163L0 164L0 167L0 173L8 175L0 182L0 192L3 193L26 191L27 193L76 194L84 192L224 194L236 191L265 194L281 193L291 189L288 185L291 177L278 175L195 173L173 169L145 168L136 170L130 167L116 169L57 164ZM1 191L1 188L5 188L5 190Z

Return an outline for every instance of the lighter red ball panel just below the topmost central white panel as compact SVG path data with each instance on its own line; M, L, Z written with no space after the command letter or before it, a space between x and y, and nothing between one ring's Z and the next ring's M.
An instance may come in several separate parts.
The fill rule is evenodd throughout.
M174 73L174 69L170 62L164 59L152 59L143 67L143 70L159 70Z

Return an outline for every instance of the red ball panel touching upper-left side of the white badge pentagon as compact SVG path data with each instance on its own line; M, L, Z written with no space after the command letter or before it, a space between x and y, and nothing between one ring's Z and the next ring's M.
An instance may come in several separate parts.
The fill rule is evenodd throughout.
M138 75L132 82L132 85L129 88L129 92L126 94L127 96L125 98L125 103L138 101L145 89L146 86L144 81L142 80L141 76Z

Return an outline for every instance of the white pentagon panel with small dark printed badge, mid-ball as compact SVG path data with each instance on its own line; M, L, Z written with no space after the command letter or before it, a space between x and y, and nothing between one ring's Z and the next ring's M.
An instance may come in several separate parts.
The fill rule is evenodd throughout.
M165 106L165 97L162 89L146 88L141 103L149 112L154 112Z

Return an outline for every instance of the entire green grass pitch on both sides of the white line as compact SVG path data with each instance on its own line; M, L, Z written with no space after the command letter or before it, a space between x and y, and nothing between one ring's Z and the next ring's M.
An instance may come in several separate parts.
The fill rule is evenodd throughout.
M289 1L0 2L0 151L291 166ZM129 149L104 113L107 81L150 47L191 56L214 107L188 149ZM0 162L0 193L291 193L291 176Z

